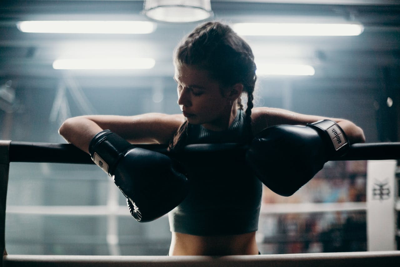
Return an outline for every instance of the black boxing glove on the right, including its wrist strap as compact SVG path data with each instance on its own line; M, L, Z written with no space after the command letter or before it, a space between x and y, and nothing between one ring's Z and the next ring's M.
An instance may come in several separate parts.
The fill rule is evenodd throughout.
M246 161L269 189L293 195L324 167L346 153L349 142L331 120L307 126L279 125L262 130L246 151Z

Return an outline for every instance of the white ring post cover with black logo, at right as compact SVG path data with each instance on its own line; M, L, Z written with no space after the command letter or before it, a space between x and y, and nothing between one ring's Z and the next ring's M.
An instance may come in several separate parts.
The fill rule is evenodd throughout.
M396 165L392 159L367 163L368 251L396 250Z

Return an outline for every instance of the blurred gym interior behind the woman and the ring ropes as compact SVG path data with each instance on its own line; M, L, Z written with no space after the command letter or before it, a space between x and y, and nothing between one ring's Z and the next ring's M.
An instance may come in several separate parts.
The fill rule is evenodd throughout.
M1 139L65 143L57 131L72 116L179 113L172 51L200 22L187 22L194 15L185 16L184 10L172 16L183 22L149 18L144 11L153 10L154 2L168 4L2 0ZM232 27L267 23L240 32L259 66L256 106L346 118L363 128L367 142L399 140L400 2L183 2L205 3L208 12L200 12L205 21L221 20ZM52 29L32 30L25 23L29 21L52 21ZM115 21L147 24L110 27L124 33L54 32L62 29L60 21L102 21L100 30L110 30ZM300 23L353 24L359 32L343 36L340 29L315 36L293 30ZM279 28L282 24L287 27ZM148 33L143 33L146 27ZM268 29L278 30L266 33ZM285 33L288 29L291 33ZM72 59L97 62L76 69L60 61ZM366 166L366 161L328 162L292 197L265 188L260 251L366 251ZM94 165L11 163L6 249L10 254L166 255L168 219L138 223L124 206L122 194Z

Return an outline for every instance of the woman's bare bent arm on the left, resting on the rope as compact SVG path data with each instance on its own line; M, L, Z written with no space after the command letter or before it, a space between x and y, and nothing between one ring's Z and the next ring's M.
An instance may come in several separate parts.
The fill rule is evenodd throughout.
M111 130L130 143L167 143L183 122L181 114L79 116L67 119L58 132L68 143L88 152L90 141L102 130Z

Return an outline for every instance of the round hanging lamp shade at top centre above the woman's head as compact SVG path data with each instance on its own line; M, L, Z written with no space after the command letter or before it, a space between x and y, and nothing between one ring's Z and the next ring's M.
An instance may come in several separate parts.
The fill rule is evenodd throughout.
M145 0L144 14L160 22L196 22L213 16L211 0Z

